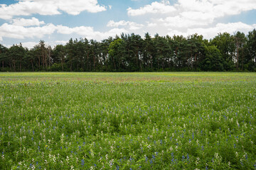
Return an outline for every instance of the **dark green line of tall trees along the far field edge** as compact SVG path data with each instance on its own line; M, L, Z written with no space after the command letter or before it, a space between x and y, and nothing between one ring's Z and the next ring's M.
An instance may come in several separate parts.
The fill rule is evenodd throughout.
M0 44L1 72L256 71L256 30L234 35L151 37L124 34L96 40L72 38L54 48L40 40L29 49Z

